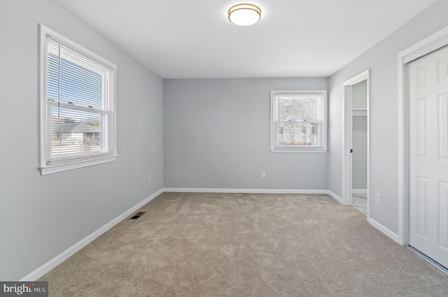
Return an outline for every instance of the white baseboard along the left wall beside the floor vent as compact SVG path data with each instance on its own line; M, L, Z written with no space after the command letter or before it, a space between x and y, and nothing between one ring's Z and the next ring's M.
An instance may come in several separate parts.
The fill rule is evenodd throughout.
M113 226L118 224L119 222L123 221L123 219L126 219L126 217L129 217L132 215L133 212L137 211L139 208L141 208L143 205L148 203L149 201L153 200L155 197L162 194L163 190L160 189L159 191L155 192L153 195L146 198L144 201L141 201L134 207L130 208L129 210L123 212L123 214L119 215L115 219L113 219L111 222L105 224L101 228L99 228L97 231L94 231L92 234L84 238L83 240L80 240L75 245L69 247L61 254L55 256L55 258L51 259L47 263L43 264L43 266L37 268L33 272L29 273L25 277L22 277L20 282L34 282L39 277L45 275L45 273L48 273L50 270L58 266L60 263L64 262L66 259L69 259L70 256L73 256L73 254L76 254L80 249L88 245L90 242L101 236L103 233L111 229Z

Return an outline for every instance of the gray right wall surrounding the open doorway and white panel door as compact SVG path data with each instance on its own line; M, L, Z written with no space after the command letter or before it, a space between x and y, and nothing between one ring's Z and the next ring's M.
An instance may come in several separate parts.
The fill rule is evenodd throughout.
M342 195L343 82L370 68L370 215L398 233L397 54L448 26L448 1L441 0L330 77L328 188Z

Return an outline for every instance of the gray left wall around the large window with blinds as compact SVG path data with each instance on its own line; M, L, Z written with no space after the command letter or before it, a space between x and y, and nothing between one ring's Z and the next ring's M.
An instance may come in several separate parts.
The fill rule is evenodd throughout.
M39 23L117 65L117 161L38 172ZM51 0L1 0L0 40L0 280L19 280L162 189L163 80Z

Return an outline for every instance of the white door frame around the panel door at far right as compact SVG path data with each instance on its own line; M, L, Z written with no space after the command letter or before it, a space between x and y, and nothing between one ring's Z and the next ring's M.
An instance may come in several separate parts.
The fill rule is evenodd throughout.
M448 27L398 52L398 243L409 245L409 63L448 45Z

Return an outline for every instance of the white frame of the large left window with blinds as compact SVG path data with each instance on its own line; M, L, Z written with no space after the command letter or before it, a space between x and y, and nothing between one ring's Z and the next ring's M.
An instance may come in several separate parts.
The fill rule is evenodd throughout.
M75 160L65 160L59 161L56 164L48 164L50 161L48 158L48 150L51 150L51 147L48 147L48 138L52 137L48 135L48 125L50 121L47 122L47 117L45 113L47 113L48 107L50 103L48 103L47 99L47 81L48 81L48 69L47 69L47 52L48 52L48 42L47 36L50 35L52 39L59 41L65 46L71 48L72 50L76 50L80 54L88 57L99 64L102 64L112 70L113 78L112 78L112 87L109 91L112 92L112 104L109 107L109 113L111 116L111 131L108 136L110 141L110 147L108 150L108 154L100 154L93 156L92 154L86 154L84 158L77 158ZM48 175L51 173L58 173L62 171L69 171L77 168L83 168L87 166L94 166L98 164L104 164L112 161L116 161L117 148L116 148L116 65L111 63L110 61L100 57L94 52L87 50L83 46L71 41L69 38L62 36L61 34L45 27L43 24L40 24L40 46L39 46L39 57L40 57L40 106L39 106L39 170L41 171L41 175Z

